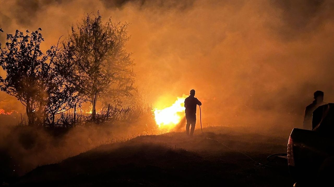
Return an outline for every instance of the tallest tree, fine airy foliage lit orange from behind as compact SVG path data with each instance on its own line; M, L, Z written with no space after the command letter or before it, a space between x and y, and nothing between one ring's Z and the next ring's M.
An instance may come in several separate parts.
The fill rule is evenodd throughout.
M68 40L63 44L67 60L75 72L72 83L79 88L82 97L93 105L97 99L120 98L131 95L135 74L131 53L125 49L130 39L128 24L113 23L111 18L103 24L102 16L87 15L77 28L72 26Z

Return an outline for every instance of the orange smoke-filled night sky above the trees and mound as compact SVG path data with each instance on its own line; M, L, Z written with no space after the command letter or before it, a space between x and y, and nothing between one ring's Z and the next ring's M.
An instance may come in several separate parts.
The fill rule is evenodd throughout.
M316 90L334 102L333 1L1 1L0 24L41 27L46 49L98 10L131 24L136 85L154 106L195 89L205 125L277 129L300 126Z

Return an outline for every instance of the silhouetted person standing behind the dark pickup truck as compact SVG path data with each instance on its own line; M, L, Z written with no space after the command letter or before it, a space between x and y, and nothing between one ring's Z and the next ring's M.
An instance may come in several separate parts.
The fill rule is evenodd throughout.
M314 101L306 106L305 115L304 115L304 123L303 128L312 130L312 115L313 111L317 109L319 106L327 104L324 102L324 93L321 91L316 91L314 94Z

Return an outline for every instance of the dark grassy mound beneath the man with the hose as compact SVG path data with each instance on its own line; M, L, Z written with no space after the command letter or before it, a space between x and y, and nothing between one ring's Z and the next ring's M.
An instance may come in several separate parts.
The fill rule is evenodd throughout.
M285 159L276 158L268 166L260 167L253 161L265 163L268 155L285 153L287 138L237 133L224 127L203 130L203 134L197 130L193 138L184 133L167 133L102 145L60 163L37 167L5 185L293 185Z

